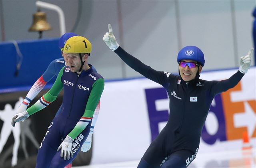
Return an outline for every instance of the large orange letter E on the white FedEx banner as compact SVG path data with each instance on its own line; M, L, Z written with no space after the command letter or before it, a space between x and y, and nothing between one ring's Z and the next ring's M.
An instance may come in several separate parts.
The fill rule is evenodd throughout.
M247 131L247 127L234 127L234 114L244 113L244 102L232 102L230 94L233 91L241 90L241 82L239 82L235 87L229 89L226 92L222 93L222 102L224 109L224 116L226 121L226 135L227 140L236 140L241 139L243 132Z

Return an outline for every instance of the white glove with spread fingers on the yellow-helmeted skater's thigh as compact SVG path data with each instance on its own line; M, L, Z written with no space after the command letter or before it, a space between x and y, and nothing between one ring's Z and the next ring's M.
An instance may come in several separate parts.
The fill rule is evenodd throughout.
M59 151L61 149L60 152L60 157L63 158L63 154L64 154L64 160L66 159L70 159L70 154L71 157L73 158L74 154L72 152L72 142L74 141L74 139L72 139L70 136L66 136L66 138L63 140L63 142L60 144L60 146L58 147Z

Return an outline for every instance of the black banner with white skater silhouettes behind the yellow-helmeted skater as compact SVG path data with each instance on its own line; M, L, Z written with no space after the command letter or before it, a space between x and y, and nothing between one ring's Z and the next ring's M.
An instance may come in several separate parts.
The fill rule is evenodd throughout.
M62 104L63 93L61 92L48 107L12 127L12 117L28 92L15 90L15 92L0 93L0 168L14 166L34 168L38 148ZM30 105L33 105L46 91L43 90ZM88 152L80 152L72 163L74 166L88 165L91 158L92 148Z

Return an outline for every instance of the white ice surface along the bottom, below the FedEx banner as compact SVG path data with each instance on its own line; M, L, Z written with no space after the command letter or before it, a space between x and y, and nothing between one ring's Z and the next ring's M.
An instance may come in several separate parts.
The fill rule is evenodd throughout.
M94 164L72 168L136 168L139 160L108 164ZM256 168L256 148L198 153L188 168Z

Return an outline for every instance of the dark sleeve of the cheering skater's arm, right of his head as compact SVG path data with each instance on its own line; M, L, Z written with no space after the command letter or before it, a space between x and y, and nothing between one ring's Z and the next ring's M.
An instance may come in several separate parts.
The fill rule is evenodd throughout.
M243 76L244 73L237 71L229 79L223 81L214 81L214 85L212 86L212 93L216 95L218 93L227 91L228 89L235 87Z

